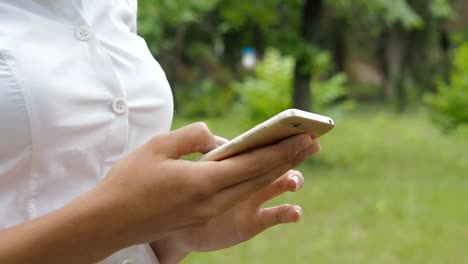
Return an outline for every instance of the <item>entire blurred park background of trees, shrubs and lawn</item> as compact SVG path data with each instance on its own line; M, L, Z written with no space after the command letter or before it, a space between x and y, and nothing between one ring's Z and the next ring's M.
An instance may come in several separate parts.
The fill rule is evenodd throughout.
M468 263L467 0L139 0L173 128L335 119L301 223L184 263Z

